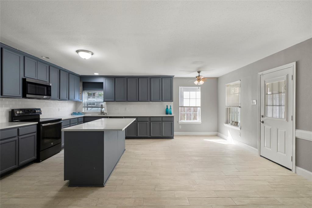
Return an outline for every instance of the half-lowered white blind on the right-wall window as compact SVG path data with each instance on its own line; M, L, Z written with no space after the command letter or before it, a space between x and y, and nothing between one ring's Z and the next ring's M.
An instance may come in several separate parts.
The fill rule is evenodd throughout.
M241 107L241 81L226 86L225 107Z

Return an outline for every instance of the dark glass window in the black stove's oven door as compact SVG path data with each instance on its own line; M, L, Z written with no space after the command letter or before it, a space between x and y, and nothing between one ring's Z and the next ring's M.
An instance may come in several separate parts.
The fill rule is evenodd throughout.
M61 123L42 126L41 127L41 142L51 143L61 138Z

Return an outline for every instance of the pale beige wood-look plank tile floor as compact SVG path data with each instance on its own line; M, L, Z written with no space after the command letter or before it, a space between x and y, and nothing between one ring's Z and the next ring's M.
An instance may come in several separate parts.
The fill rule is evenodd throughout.
M312 208L312 181L216 136L127 139L101 188L67 187L63 153L2 178L1 208Z

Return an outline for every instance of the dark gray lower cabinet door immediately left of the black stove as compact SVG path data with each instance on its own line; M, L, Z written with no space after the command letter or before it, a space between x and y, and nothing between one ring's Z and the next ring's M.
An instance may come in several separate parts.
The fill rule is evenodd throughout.
M18 165L37 158L37 133L18 137Z

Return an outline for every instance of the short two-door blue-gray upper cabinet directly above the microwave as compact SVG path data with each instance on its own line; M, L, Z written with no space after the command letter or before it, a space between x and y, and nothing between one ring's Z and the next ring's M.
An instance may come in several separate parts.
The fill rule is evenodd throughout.
M24 59L24 77L49 81L49 66L40 61L26 57Z

